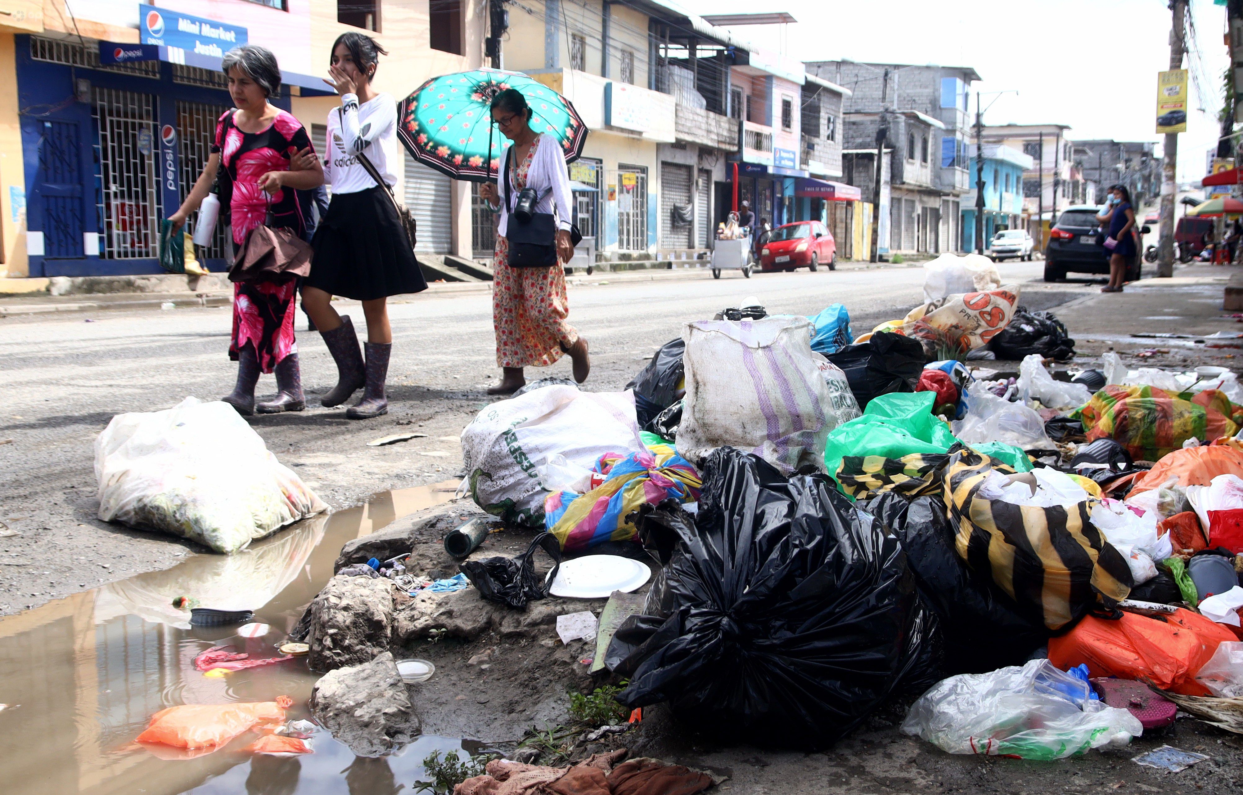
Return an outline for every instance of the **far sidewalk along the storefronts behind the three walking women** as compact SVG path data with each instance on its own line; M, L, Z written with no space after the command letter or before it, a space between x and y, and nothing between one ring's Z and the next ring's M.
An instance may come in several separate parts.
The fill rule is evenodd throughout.
M921 267L921 262L902 262L892 265L889 262L840 262L839 271L868 271L888 268L912 268ZM133 292L89 292L78 294L55 296L50 292L21 292L0 294L0 318L45 314L55 312L101 312L107 309L160 309L180 307L224 307L232 303L232 286L224 275L215 273L205 289L191 289L189 279L184 276L135 276L135 277L109 277L108 286L116 286L119 279L131 279L135 289ZM697 267L687 263L663 270L638 270L638 271L597 271L588 276L585 272L576 272L566 277L566 283L571 287L594 284L618 284L625 282L654 282L654 281L687 281L712 278L712 271L706 267ZM26 279L4 279L5 282L24 282ZM46 282L47 279L31 279ZM184 289L173 289L178 283L186 283ZM159 289L163 287L164 289ZM155 288L155 289L148 289ZM15 288L14 288L15 289ZM452 293L487 293L491 292L491 282L433 282L428 286L429 294ZM394 296L393 302L399 303L405 298ZM342 306L352 306L349 299L341 299Z

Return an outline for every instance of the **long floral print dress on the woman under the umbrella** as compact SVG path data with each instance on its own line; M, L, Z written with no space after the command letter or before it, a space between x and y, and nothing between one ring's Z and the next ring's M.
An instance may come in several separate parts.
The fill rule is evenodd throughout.
M539 147L536 138L513 176L515 193L527 186L527 173ZM569 296L561 265L546 268L511 268L510 241L496 238L492 263L492 324L496 328L496 364L502 368L542 368L553 364L578 342L578 332L566 322Z

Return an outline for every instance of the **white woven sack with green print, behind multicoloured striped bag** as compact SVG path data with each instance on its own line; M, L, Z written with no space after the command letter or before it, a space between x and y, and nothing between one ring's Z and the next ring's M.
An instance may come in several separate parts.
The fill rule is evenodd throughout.
M490 405L466 426L464 486L484 511L541 527L559 472L589 470L608 452L643 450L634 393L543 386Z

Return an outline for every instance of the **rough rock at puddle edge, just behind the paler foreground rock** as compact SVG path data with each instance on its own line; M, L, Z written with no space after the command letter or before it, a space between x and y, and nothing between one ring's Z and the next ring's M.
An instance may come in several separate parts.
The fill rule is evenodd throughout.
M311 602L311 670L357 666L387 652L395 594L409 599L383 578L337 575L328 580Z

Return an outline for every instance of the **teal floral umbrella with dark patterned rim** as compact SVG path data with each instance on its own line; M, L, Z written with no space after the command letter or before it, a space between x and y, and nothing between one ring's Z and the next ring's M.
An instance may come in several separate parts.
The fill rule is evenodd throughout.
M531 129L556 137L567 163L583 154L587 125L569 99L500 70L433 77L398 104L398 135L416 160L454 179L493 179L507 139L492 124L490 106L506 88L522 92L533 111Z

